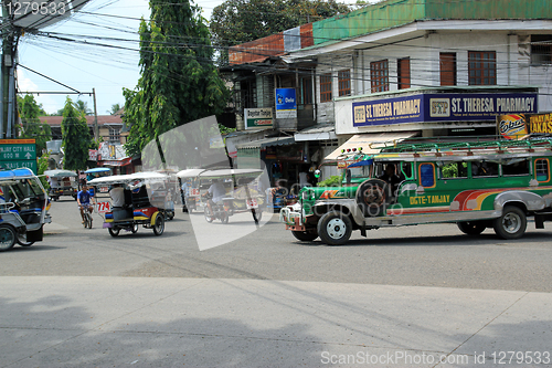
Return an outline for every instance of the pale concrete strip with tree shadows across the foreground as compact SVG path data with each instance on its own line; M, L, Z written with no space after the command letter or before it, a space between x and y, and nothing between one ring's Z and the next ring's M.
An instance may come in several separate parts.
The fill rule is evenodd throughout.
M0 298L0 367L552 366L548 293L36 276Z

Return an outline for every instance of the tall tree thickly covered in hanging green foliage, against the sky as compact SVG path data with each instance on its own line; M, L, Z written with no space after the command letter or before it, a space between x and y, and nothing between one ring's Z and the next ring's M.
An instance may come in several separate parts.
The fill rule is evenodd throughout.
M230 96L199 8L188 0L151 0L150 8L139 29L141 76L135 90L124 88L130 155L164 132L222 113Z

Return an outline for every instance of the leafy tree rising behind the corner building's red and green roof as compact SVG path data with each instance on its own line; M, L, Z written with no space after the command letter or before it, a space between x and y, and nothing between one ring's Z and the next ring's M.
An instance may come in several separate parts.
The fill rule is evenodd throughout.
M227 63L227 48L351 11L335 0L227 0L214 8L210 29Z

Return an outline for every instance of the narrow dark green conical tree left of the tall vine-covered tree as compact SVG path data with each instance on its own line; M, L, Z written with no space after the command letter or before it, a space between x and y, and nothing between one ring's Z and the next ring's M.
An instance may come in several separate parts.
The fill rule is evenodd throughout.
M63 107L62 135L63 167L68 170L86 169L88 149L92 144L91 130L86 125L84 114L78 111L70 97L67 97Z

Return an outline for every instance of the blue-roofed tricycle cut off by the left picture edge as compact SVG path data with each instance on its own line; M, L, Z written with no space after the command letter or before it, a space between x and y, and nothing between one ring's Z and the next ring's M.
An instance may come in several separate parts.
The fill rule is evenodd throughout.
M0 251L42 241L43 224L52 222L49 208L46 190L30 169L0 170Z

